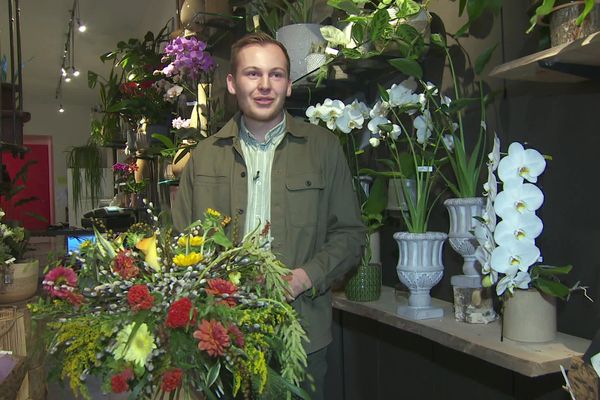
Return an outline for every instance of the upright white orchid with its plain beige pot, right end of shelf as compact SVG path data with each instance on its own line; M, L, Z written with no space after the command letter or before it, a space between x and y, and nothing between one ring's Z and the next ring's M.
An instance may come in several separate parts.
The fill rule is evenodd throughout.
M503 299L503 336L522 342L546 342L556 335L556 298L568 299L579 283L569 288L559 279L571 265L555 267L541 263L535 240L542 233L536 211L544 194L536 186L546 161L537 150L512 143L500 159L496 138L489 156L485 212L476 228L481 244L477 257L483 284L496 287ZM498 191L498 180L502 183ZM500 218L500 222L498 222ZM587 294L586 294L587 297ZM523 321L528 321L524 324Z

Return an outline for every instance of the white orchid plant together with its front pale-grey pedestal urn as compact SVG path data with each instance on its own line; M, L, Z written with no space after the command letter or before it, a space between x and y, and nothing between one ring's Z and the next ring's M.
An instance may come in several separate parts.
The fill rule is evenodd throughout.
M407 231L394 234L400 252L396 270L400 281L410 290L408 305L400 306L397 312L411 319L443 316L440 307L432 306L429 294L443 276L442 249L448 236L428 231L431 210L441 195L434 188L443 163L443 142L449 139L447 133L451 129L446 119L436 117L435 110L439 107L447 105L443 104L438 88L410 78L381 91L368 123L371 145L383 143L389 150L392 176L406 178L413 174L415 179L415 197L404 196L407 207L401 210ZM410 170L404 161L405 154L411 161Z

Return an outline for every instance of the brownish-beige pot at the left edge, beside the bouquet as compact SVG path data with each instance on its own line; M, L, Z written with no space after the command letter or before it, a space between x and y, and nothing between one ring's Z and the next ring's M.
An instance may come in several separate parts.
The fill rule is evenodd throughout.
M37 291L39 269L39 261L33 259L6 267L0 275L0 304L32 297Z

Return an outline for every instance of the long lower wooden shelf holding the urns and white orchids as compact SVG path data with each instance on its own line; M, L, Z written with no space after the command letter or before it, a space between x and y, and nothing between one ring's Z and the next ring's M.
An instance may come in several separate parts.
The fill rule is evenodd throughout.
M434 306L444 309L444 317L438 320L410 320L396 314L399 305L406 305L404 296L396 296L393 288L382 287L381 297L373 302L353 302L343 293L333 294L333 307L352 314L379 321L406 332L422 336L443 346L480 358L489 363L536 377L568 368L571 358L581 356L590 341L576 336L558 333L548 343L521 343L510 339L500 341L498 321L483 324L467 324L454 319L452 304L433 299Z

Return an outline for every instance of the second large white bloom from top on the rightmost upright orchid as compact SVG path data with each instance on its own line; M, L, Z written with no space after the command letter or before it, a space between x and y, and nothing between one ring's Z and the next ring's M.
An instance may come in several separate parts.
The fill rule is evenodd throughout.
M496 214L502 219L510 218L510 214L535 212L544 203L544 194L531 183L504 185L494 201Z

